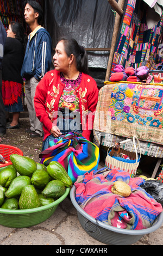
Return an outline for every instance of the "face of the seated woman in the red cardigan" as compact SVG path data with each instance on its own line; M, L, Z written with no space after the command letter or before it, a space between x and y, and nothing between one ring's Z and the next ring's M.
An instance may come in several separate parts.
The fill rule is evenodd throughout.
M64 42L61 40L58 42L55 48L55 54L53 56L55 69L61 72L67 72L70 64L70 57L65 52Z

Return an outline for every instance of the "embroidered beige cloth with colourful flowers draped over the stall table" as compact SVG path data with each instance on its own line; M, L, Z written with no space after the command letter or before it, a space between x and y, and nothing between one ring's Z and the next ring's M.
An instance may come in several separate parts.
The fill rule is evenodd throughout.
M97 144L103 143L110 147L108 140L112 142L117 137L123 137L120 139L122 141L124 138L136 136L146 155L162 157L163 87L161 84L129 82L105 82L105 84L99 91L95 113L94 136ZM131 149L133 145L128 143L128 147Z

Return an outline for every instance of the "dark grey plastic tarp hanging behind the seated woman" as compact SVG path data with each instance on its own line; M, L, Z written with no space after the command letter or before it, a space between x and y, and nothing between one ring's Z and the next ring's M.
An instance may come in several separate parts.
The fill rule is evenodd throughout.
M46 0L45 27L53 48L70 35L85 48L111 47L115 16L108 0ZM90 68L107 68L108 51L87 51Z

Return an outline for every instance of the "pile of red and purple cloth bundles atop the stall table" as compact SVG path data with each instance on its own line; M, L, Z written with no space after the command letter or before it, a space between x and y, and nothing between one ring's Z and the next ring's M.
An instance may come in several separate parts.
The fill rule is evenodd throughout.
M128 81L128 82L142 82L147 79L149 69L146 66L140 66L136 70L130 66L126 69L121 64L117 64L114 72L111 73L109 81Z

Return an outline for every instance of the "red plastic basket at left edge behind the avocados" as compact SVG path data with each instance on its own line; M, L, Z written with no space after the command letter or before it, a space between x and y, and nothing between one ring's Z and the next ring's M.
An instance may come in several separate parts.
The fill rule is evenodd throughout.
M14 147L14 146L4 145L4 144L0 144L0 154L4 157L4 159L6 161L8 161L8 163L4 163L4 164L0 165L0 168L9 166L10 164L12 164L11 160L10 160L10 155L17 154L17 155L23 156L22 150Z

